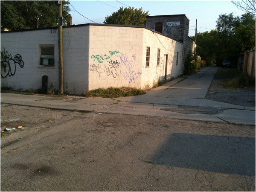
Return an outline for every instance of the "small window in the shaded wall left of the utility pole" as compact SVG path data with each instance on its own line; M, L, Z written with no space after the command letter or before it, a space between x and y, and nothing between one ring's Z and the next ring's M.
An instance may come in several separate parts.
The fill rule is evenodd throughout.
M54 66L54 45L40 45L40 66Z

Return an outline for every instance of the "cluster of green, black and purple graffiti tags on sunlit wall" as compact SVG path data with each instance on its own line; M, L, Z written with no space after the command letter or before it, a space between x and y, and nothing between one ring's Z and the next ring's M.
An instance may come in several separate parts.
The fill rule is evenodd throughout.
M90 71L98 73L99 78L105 73L105 76L113 78L122 77L128 83L135 82L136 79L142 74L134 70L136 55L132 57L125 56L119 51L109 51L108 54L91 55L91 59L97 64L90 66Z

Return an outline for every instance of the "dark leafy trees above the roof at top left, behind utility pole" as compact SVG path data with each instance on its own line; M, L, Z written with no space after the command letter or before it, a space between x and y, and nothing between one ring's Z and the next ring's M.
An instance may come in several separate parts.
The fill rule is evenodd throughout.
M69 21L69 1L63 2L63 23ZM1 1L1 30L34 29L58 24L54 1Z

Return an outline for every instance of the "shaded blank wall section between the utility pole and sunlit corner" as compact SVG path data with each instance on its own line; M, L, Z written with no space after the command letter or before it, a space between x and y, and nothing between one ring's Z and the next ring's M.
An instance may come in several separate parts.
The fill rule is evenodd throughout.
M64 92L88 89L89 25L63 28Z

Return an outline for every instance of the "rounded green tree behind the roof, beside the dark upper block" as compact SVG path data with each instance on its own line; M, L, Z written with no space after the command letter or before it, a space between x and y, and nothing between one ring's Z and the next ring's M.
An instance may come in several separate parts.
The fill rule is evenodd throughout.
M117 12L113 12L112 15L105 17L105 21L103 23L145 26L147 16L148 11L145 12L142 8L134 9L128 7L123 9L123 7L121 7Z

